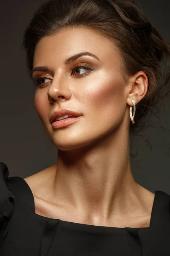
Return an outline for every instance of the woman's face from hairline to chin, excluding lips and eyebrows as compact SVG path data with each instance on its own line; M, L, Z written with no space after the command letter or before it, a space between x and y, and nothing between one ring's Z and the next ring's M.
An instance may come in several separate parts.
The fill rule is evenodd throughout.
M65 64L66 59L80 52L90 52L97 58L82 55ZM67 28L42 38L34 52L33 69L42 66L48 69L33 73L33 79L43 77L35 89L35 107L57 148L71 150L89 145L114 134L127 118L128 90L121 56L102 35L87 28ZM63 108L82 116L71 125L54 129L49 121L51 113Z

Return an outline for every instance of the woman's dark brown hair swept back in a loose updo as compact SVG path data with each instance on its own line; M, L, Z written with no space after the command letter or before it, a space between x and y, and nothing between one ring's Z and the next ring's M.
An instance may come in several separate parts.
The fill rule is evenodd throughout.
M140 131L146 126L147 114L158 112L156 103L162 99L161 89L169 84L170 77L164 81L162 60L164 56L170 58L170 46L130 1L50 0L34 13L24 35L23 48L30 75L34 49L40 39L66 27L87 27L109 38L121 52L125 77L138 71L147 74L147 94L136 105L136 123L130 122L130 133Z

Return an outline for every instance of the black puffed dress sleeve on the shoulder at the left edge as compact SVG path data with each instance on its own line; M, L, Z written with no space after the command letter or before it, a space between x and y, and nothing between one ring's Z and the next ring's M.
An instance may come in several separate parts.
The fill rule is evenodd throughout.
M12 195L6 183L8 174L8 167L6 164L0 162L0 241L6 233L6 227L14 203L14 195Z

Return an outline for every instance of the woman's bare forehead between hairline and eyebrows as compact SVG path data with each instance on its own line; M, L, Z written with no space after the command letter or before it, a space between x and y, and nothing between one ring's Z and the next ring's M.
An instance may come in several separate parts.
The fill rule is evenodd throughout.
M88 28L65 28L43 37L34 51L33 67L41 64L64 64L66 58L79 52L91 52L101 61L120 58L113 42Z

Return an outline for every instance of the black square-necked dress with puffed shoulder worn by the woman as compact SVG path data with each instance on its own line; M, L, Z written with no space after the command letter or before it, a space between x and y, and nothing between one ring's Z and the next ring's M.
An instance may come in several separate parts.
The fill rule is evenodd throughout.
M150 227L104 227L35 213L21 177L0 162L0 256L170 256L170 195L156 190Z

